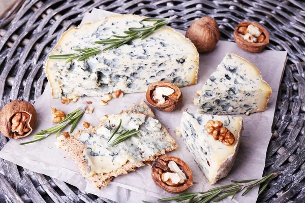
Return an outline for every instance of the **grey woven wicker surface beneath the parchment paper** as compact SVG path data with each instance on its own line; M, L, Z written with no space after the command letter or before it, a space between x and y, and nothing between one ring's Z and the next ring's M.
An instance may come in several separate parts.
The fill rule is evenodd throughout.
M17 0L0 16L0 108L14 99L34 103L45 86L43 64L60 35L84 13L101 8L150 17L178 15L172 27L186 30L194 19L215 18L221 40L233 41L243 20L263 24L267 49L289 55L278 96L264 174L280 172L258 202L305 202L305 3L302 0ZM0 136L0 149L7 143ZM247 197L245 197L246 200ZM111 202L62 181L0 159L0 202ZM140 200L139 200L140 201Z

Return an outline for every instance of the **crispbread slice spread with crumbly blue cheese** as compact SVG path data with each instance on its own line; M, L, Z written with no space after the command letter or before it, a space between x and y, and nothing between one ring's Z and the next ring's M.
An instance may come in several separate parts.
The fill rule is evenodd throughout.
M107 142L115 129L114 140L127 130L139 130L131 138L111 146ZM143 101L120 114L106 115L97 127L90 126L68 138L60 136L57 147L75 160L80 174L97 188L109 185L119 175L135 171L145 162L178 148L175 140ZM111 142L110 142L111 143Z

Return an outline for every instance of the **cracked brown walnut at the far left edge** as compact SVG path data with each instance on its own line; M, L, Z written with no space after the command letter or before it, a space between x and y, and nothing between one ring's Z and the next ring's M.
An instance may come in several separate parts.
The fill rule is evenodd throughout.
M36 120L37 113L32 104L14 100L0 111L0 131L8 138L24 138L33 131Z

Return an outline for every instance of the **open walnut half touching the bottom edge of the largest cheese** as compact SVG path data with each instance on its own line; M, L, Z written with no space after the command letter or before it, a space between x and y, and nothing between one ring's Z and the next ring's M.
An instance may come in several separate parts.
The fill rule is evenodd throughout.
M165 89L160 91L163 93L159 94L157 88L166 88L167 90L170 90L168 93L171 94L164 95L167 91L165 91ZM149 105L155 107L159 111L172 112L177 107L181 107L182 93L176 85L170 82L160 81L149 85L146 91L146 100Z

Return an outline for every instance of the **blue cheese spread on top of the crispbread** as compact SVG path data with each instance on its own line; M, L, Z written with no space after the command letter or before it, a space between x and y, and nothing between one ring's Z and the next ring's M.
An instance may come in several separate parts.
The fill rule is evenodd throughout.
M135 128L140 132L115 146L108 146L107 142L120 119L121 126L111 140L126 130ZM145 120L144 114L124 112L109 115L96 133L81 133L79 141L86 145L83 157L88 164L89 174L93 175L110 173L128 161L136 163L146 160L149 156L170 147L171 144L163 140L165 136L157 119L148 117Z

